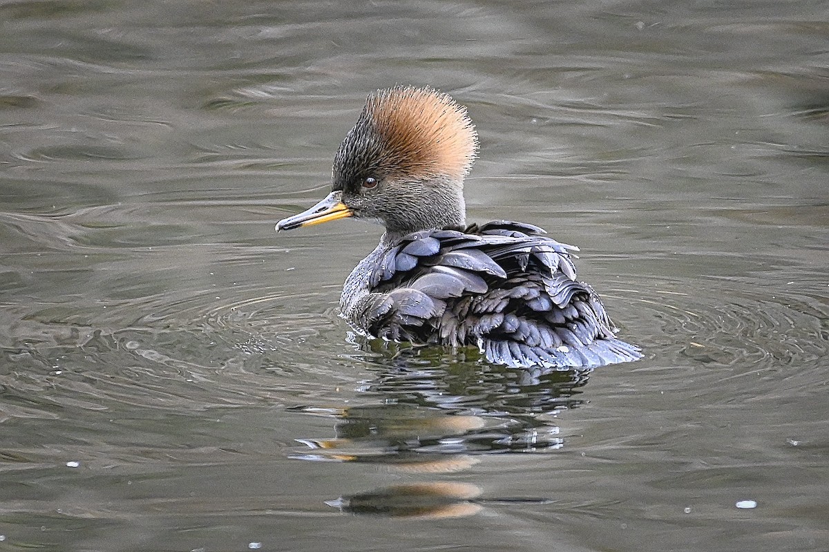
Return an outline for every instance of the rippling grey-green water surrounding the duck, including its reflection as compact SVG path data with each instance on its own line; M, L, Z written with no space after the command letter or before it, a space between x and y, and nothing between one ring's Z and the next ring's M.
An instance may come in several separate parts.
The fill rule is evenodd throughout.
M829 549L827 16L3 4L0 549ZM398 83L468 105L470 219L579 245L645 360L350 337L379 230L273 226Z

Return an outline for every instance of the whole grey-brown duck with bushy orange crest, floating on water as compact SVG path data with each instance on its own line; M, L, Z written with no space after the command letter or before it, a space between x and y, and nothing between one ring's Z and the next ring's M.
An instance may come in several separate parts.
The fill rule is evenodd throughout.
M429 86L376 90L334 156L331 192L277 232L354 218L385 227L348 275L340 316L367 338L477 347L495 365L593 369L642 358L579 281L578 248L536 225L469 224L478 157L467 109Z

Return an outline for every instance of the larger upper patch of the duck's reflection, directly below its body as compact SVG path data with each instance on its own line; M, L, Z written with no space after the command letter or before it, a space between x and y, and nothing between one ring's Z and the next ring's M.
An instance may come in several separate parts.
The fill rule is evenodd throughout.
M457 472L482 454L560 448L562 409L581 404L588 374L576 370L512 370L434 347L369 357L376 377L363 395L371 404L305 405L294 410L336 419L333 437L298 438L293 458L370 462L404 472Z

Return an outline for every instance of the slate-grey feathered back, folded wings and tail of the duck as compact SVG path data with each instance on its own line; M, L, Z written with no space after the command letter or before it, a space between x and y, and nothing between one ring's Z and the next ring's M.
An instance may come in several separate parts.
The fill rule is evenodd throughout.
M371 274L386 313L368 331L401 341L478 346L507 366L635 361L599 296L576 279L574 246L533 225L497 220L405 236Z

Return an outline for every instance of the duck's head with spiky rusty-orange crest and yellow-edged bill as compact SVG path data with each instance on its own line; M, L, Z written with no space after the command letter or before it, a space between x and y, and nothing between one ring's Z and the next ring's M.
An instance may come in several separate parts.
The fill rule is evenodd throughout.
M448 94L377 90L334 156L332 192L276 230L348 216L380 220L390 235L463 225L463 178L477 152L473 123Z

